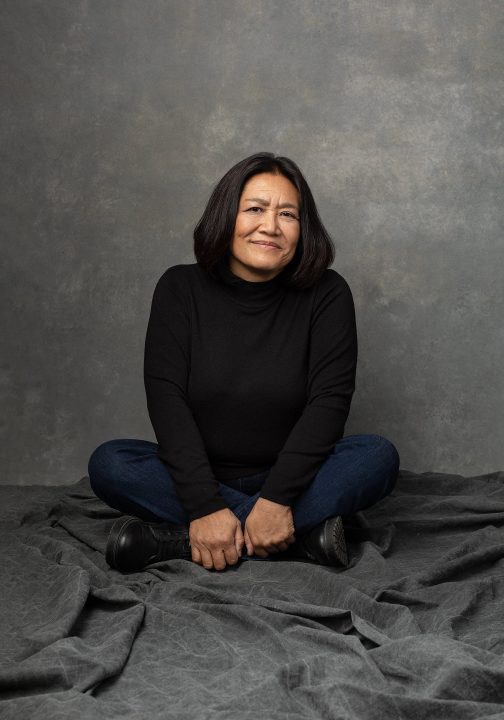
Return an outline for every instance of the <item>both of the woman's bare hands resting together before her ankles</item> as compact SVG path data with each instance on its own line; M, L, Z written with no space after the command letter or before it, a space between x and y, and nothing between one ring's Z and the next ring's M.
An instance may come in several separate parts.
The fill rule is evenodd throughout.
M236 515L225 508L193 520L189 526L192 559L207 570L236 565L243 546L258 557L287 550L294 538L294 519L288 505L258 498L242 532Z

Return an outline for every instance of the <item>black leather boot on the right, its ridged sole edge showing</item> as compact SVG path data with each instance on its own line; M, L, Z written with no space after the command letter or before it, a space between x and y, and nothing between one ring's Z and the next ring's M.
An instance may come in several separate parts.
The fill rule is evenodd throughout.
M302 535L287 551L296 558L306 558L320 565L348 567L348 553L343 523L339 516L328 518Z

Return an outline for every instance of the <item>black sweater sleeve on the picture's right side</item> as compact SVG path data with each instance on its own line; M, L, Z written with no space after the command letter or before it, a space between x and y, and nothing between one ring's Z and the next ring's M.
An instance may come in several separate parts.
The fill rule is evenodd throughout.
M292 505L343 436L355 389L357 332L352 293L330 272L312 312L308 400L278 454L261 497Z

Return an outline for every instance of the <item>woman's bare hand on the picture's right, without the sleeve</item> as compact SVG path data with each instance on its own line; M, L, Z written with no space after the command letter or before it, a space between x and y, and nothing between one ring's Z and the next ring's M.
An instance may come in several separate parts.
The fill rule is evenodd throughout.
M294 540L294 518L290 507L259 498L245 522L248 554L268 557L270 553L287 550Z

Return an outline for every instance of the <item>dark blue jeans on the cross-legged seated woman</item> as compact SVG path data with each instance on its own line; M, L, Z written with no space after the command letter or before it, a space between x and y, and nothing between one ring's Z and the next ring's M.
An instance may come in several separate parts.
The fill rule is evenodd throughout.
M143 520L188 525L158 446L147 440L109 440L89 459L94 493L107 505ZM399 455L379 435L350 435L333 452L292 507L298 535L335 515L352 515L388 495L396 482ZM242 525L259 497L268 470L220 481L220 492Z

